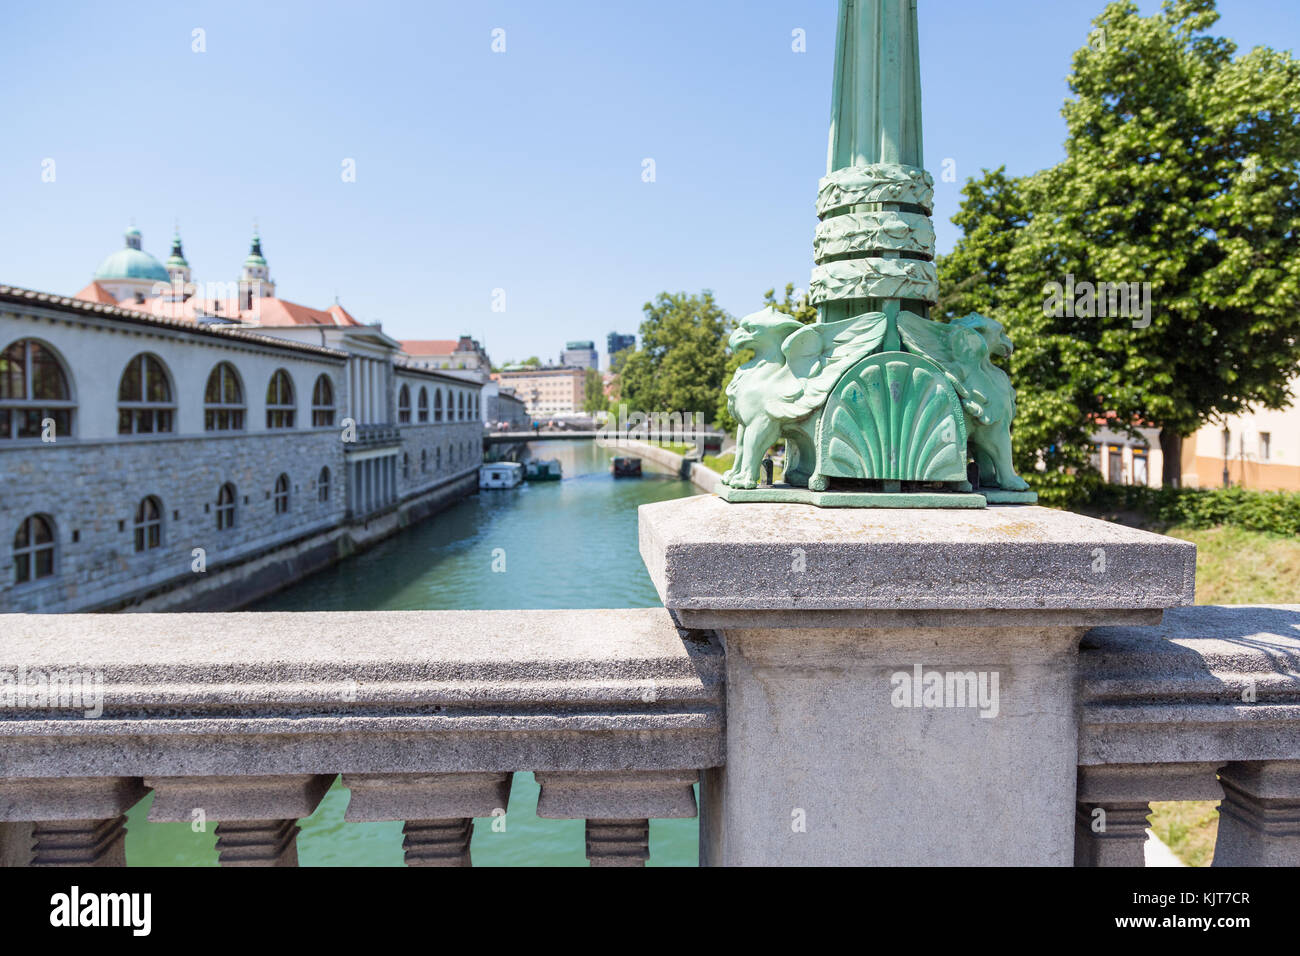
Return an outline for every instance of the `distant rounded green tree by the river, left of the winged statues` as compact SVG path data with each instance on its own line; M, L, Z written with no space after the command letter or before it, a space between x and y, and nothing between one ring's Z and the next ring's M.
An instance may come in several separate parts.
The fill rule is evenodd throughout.
M727 385L731 316L708 290L659 293L642 312L641 346L627 350L619 373L623 403L629 411L710 418Z

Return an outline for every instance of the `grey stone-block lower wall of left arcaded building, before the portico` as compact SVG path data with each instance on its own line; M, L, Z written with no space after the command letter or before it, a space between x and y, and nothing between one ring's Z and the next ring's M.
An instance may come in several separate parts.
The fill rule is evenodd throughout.
M328 467L328 498L320 499ZM343 445L334 428L0 449L0 611L75 611L144 597L313 532L344 516ZM289 510L273 489L290 480ZM235 524L217 529L217 494L237 490ZM135 550L140 501L162 509L159 548ZM32 514L52 519L56 574L14 584L13 536ZM203 549L195 555L195 549Z

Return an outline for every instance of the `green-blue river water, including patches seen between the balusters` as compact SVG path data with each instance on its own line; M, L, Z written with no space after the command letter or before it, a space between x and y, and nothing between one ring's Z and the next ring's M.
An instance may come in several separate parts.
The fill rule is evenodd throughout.
M537 442L558 458L563 481L481 492L376 548L261 601L251 610L491 610L520 607L656 607L637 551L637 506L697 494L689 481L645 462L645 475L615 480L610 450L593 441ZM500 549L498 551L497 549ZM493 571L504 558L504 572ZM131 866L216 866L213 825L146 821L152 797L127 814ZM300 821L303 866L400 866L402 823L343 823L348 792L337 780ZM515 774L510 806L474 823L476 866L582 866L584 823L541 819L532 774ZM693 866L694 819L650 822L651 866Z

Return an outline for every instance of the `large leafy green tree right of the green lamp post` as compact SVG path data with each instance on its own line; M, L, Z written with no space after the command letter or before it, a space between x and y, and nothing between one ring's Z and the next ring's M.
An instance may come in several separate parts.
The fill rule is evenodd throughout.
M1018 468L1078 497L1097 416L1160 428L1165 483L1182 440L1248 405L1278 407L1300 362L1300 62L1210 36L1213 0L1139 16L1112 3L1072 60L1066 157L967 183L963 237L940 263L941 315L1008 325ZM1148 315L1061 310L1048 284L1149 289ZM1066 315L1072 311L1074 315ZM1149 317L1149 325L1145 324Z

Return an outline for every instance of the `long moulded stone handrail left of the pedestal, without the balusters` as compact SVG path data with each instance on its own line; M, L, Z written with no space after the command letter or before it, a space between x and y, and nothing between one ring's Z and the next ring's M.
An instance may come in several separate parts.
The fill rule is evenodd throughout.
M662 607L0 620L0 777L722 760L722 649ZM22 689L56 674L98 683L103 713Z

